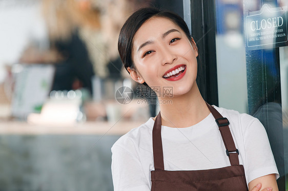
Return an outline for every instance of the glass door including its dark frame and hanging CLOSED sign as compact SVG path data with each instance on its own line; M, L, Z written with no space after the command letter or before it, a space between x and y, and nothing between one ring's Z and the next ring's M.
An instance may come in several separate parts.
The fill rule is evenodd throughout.
M205 63L198 71L202 96L259 119L280 174L279 190L288 190L288 0L183 4L200 47L198 62Z

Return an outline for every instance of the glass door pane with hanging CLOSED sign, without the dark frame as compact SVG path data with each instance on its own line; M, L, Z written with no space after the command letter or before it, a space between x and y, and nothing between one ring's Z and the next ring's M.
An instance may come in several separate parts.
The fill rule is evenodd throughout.
M287 7L277 0L216 0L215 10L219 106L249 113L263 124L279 190L285 190Z

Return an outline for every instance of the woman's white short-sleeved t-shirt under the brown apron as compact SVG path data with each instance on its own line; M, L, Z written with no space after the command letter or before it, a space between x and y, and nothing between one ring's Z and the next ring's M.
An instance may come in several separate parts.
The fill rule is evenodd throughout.
M277 174L279 178L268 136L257 118L214 107L230 122L247 185L255 178L269 174ZM111 168L115 191L151 190L151 171L154 171L153 125L151 117L113 145ZM191 127L162 126L161 136L165 170L205 170L231 165L212 113Z

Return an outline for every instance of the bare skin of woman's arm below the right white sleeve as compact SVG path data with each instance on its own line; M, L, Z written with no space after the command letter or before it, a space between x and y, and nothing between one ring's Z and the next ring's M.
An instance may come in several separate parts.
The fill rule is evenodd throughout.
M261 183L260 186L259 185L257 186L258 183ZM270 174L270 175L256 178L252 180L251 182L249 182L248 187L249 187L249 191L258 191L260 190L260 188L264 188L261 190L265 190L265 191L266 190L278 191L275 174ZM272 189L268 189L270 187Z

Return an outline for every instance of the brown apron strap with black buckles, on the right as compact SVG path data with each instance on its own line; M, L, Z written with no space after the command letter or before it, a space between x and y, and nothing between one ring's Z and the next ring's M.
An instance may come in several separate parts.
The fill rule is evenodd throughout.
M214 107L209 105L207 102L206 104L212 115L214 116L215 121L219 127L219 131L221 133L226 148L226 154L229 157L231 165L239 165L239 151L235 147L235 143L228 126L230 124L228 119L226 117L223 117Z

